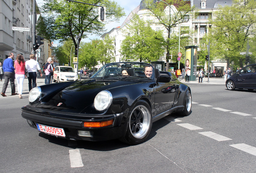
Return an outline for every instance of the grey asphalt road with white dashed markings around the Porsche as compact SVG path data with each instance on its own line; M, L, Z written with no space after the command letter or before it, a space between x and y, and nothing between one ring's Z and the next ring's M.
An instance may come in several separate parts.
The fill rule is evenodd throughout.
M192 113L153 123L148 140L129 146L118 140L68 141L29 127L23 99L0 97L1 173L255 173L256 90L227 91L223 79L192 90ZM39 78L37 85L44 84ZM0 83L2 91L2 83Z

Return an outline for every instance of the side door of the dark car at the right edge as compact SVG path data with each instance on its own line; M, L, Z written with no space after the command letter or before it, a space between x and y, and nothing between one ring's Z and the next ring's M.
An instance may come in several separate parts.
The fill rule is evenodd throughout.
M235 86L238 88L254 88L256 85L255 66L246 66L236 74Z

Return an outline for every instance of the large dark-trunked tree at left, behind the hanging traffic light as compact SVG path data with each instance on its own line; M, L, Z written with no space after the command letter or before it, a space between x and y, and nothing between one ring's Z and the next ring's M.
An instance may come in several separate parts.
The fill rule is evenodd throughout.
M79 1L79 0L78 0ZM91 0L91 4L106 6L106 21L116 21L124 16L124 9L111 0ZM47 40L71 39L77 50L78 42L89 34L100 34L105 23L98 20L98 7L66 0L45 0L40 8L42 17L37 32ZM76 36L81 37L76 39ZM77 55L77 52L75 52Z

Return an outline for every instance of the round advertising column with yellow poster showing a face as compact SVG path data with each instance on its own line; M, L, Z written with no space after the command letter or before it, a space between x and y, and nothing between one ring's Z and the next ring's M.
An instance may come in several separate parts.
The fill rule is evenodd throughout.
M191 81L196 81L197 48L198 46L185 46L185 70L190 68Z

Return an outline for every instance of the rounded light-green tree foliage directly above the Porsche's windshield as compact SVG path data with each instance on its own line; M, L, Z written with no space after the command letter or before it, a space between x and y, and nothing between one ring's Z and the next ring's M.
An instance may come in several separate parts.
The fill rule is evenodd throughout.
M163 35L155 31L150 24L141 20L138 15L124 31L125 39L121 44L123 61L151 62L156 61L163 54Z

